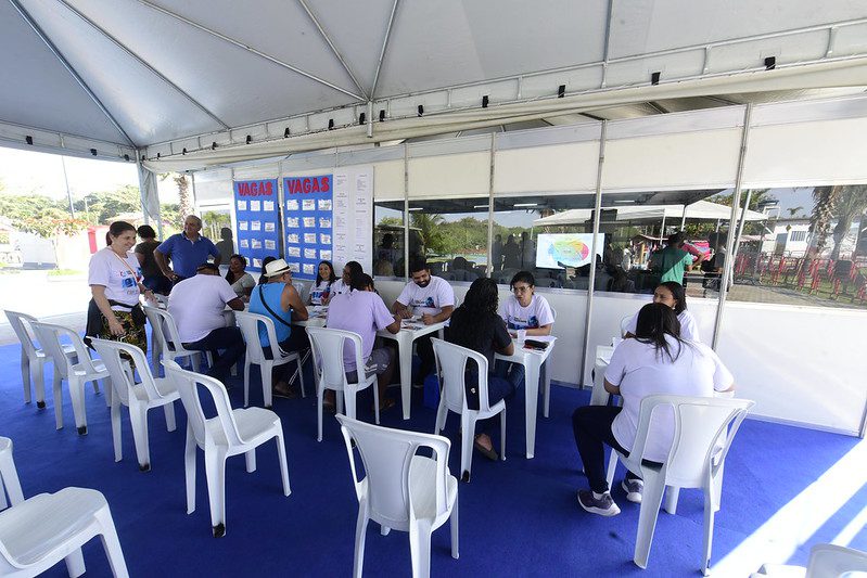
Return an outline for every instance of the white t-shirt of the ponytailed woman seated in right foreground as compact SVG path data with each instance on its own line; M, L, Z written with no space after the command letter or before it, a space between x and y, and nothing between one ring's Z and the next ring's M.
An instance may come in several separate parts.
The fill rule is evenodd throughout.
M672 354L678 351L677 341L666 335ZM655 394L675 396L712 397L714 390L731 387L735 377L719 357L704 344L687 342L679 345L680 355L672 361L667 354L656 352L653 344L625 339L611 356L605 380L620 387L623 411L611 424L614 439L625 449L632 449L638 431L641 400ZM646 460L663 462L674 440L674 412L659 408L653 412L645 446Z

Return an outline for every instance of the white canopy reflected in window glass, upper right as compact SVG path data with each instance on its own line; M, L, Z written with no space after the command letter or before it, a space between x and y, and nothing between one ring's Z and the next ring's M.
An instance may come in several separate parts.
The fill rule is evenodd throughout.
M684 213L686 208L686 213ZM641 221L641 220L679 220L686 215L687 219L719 220L728 221L731 218L731 207L711 203L710 201L697 201L689 205L630 205L615 207L611 210L617 211L619 221ZM741 219L743 209L738 209L738 220ZM579 224L589 220L592 216L590 209L571 209L556 213L549 217L536 219L533 227L553 227L564 224ZM747 209L748 221L763 221L767 219L764 213Z

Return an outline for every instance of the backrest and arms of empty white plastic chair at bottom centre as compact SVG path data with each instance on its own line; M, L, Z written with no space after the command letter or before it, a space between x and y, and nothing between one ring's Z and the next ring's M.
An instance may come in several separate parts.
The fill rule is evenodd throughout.
M356 497L361 499L362 480L358 479L352 440L355 440L365 464L369 506L374 517L398 523L406 523L411 518L415 512L409 491L409 472L419 448L431 448L434 452L436 473L432 486L436 493L436 515L448 510L448 452L451 442L447 438L382 427L343 414L337 414L336 418L346 441Z

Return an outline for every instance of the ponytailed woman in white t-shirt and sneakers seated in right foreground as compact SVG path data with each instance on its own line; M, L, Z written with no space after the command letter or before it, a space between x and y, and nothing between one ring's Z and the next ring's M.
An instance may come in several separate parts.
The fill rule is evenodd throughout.
M680 323L674 309L648 304L638 311L635 338L621 343L605 371L605 390L623 397L623 407L585 406L572 414L589 490L578 490L578 503L602 516L620 513L605 480L604 445L628 453L635 442L641 400L656 394L711 397L732 391L735 378L716 354L699 342L679 337ZM648 431L643 459L663 462L674 439L674 415L654 413ZM643 483L633 472L622 483L626 499L641 502Z

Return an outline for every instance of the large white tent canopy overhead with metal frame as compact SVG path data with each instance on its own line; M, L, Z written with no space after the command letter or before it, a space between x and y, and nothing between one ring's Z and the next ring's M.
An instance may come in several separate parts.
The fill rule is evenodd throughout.
M0 143L164 171L863 91L865 29L857 0L8 0Z

